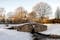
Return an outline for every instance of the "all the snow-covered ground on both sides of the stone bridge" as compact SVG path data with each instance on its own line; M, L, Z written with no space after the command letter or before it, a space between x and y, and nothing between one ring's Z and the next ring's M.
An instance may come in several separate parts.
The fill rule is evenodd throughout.
M20 24L15 24L20 25ZM10 26L15 26L9 24ZM23 25L23 24L22 24ZM60 24L44 24L48 26L48 29L46 31L40 32L43 34L50 34L50 35L60 35ZM5 29L5 24L0 24L0 40L32 40L32 34L28 32L19 32L16 30L8 30Z

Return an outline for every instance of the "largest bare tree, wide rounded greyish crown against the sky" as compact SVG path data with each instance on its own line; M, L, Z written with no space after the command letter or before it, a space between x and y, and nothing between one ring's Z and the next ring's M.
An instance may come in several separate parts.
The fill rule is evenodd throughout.
M49 15L52 13L51 11L51 7L47 4L47 3L44 3L44 2L40 2L38 4L36 4L34 7L33 7L33 11L35 11L40 18L43 19L43 17L49 17Z

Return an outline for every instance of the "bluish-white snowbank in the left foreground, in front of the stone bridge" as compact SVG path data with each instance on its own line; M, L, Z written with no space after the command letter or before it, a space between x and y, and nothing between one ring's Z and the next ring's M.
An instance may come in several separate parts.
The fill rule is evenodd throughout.
M16 30L0 29L0 40L32 40L32 34Z

